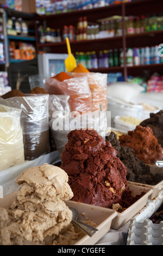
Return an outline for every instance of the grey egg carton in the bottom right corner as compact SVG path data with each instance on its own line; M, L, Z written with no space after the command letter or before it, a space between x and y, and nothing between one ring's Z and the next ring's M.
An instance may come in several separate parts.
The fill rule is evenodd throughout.
M127 245L163 245L163 221L153 224L151 220L137 222L131 219Z

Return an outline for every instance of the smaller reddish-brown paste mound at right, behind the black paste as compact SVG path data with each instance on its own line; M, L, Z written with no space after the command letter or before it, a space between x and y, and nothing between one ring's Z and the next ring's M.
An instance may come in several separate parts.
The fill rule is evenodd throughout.
M119 141L121 146L132 148L137 158L147 164L163 159L163 149L150 127L138 125L134 131L128 131L127 135L120 136Z

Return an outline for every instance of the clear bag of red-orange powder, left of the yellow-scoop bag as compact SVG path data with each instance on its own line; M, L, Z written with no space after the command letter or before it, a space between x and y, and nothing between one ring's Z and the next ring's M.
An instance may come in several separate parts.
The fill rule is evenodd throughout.
M80 113L92 111L92 95L86 77L76 77L60 82L47 78L45 90L50 95L69 95L70 110Z

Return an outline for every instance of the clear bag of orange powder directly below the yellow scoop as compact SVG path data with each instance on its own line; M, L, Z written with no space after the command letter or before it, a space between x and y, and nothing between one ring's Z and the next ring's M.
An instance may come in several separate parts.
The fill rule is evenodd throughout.
M86 77L92 94L92 111L107 111L107 80L108 74L101 73L68 73L72 77Z

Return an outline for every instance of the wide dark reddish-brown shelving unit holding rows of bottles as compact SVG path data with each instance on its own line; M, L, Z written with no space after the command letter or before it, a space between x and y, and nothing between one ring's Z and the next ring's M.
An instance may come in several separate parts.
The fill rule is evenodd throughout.
M98 19L110 17L113 15L119 15L123 17L123 36L114 38L96 39L96 40L85 40L85 41L73 41L71 42L72 52L87 52L95 50L97 53L100 50L110 50L114 48L123 48L123 51L128 47L143 47L153 46L163 43L162 35L163 31L151 31L141 34L126 35L124 33L125 16L141 16L141 15L152 15L153 13L159 14L163 9L162 0L137 0L130 3L122 3L117 5L110 5L109 7L95 8L89 10L72 11L71 13L61 13L50 16L36 16L35 18L35 35L36 35L36 48L39 51L48 51L51 53L67 53L66 43L52 43L52 44L40 44L37 33L37 21L46 21L47 26L51 28L62 28L64 25L76 26L79 17L87 17L88 21L96 22ZM143 39L143 40L142 40ZM125 59L124 54L124 59ZM92 69L90 71L99 72L123 72L124 79L127 80L128 75L141 76L143 73L148 75L153 74L154 71L158 71L162 74L162 64L152 64L143 66L132 66L128 67L126 61L124 66L103 68L103 69Z

